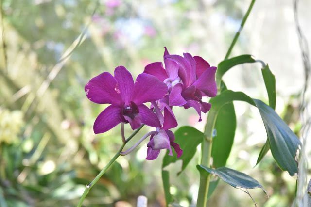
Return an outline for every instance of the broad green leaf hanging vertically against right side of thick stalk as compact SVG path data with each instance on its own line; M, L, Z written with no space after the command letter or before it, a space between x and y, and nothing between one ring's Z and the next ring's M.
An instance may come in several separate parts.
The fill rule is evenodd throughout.
M224 91L226 86L224 83L222 84L222 90ZM233 103L227 103L218 111L214 127L216 136L213 138L212 157L215 168L225 166L231 152L236 127L237 120Z

